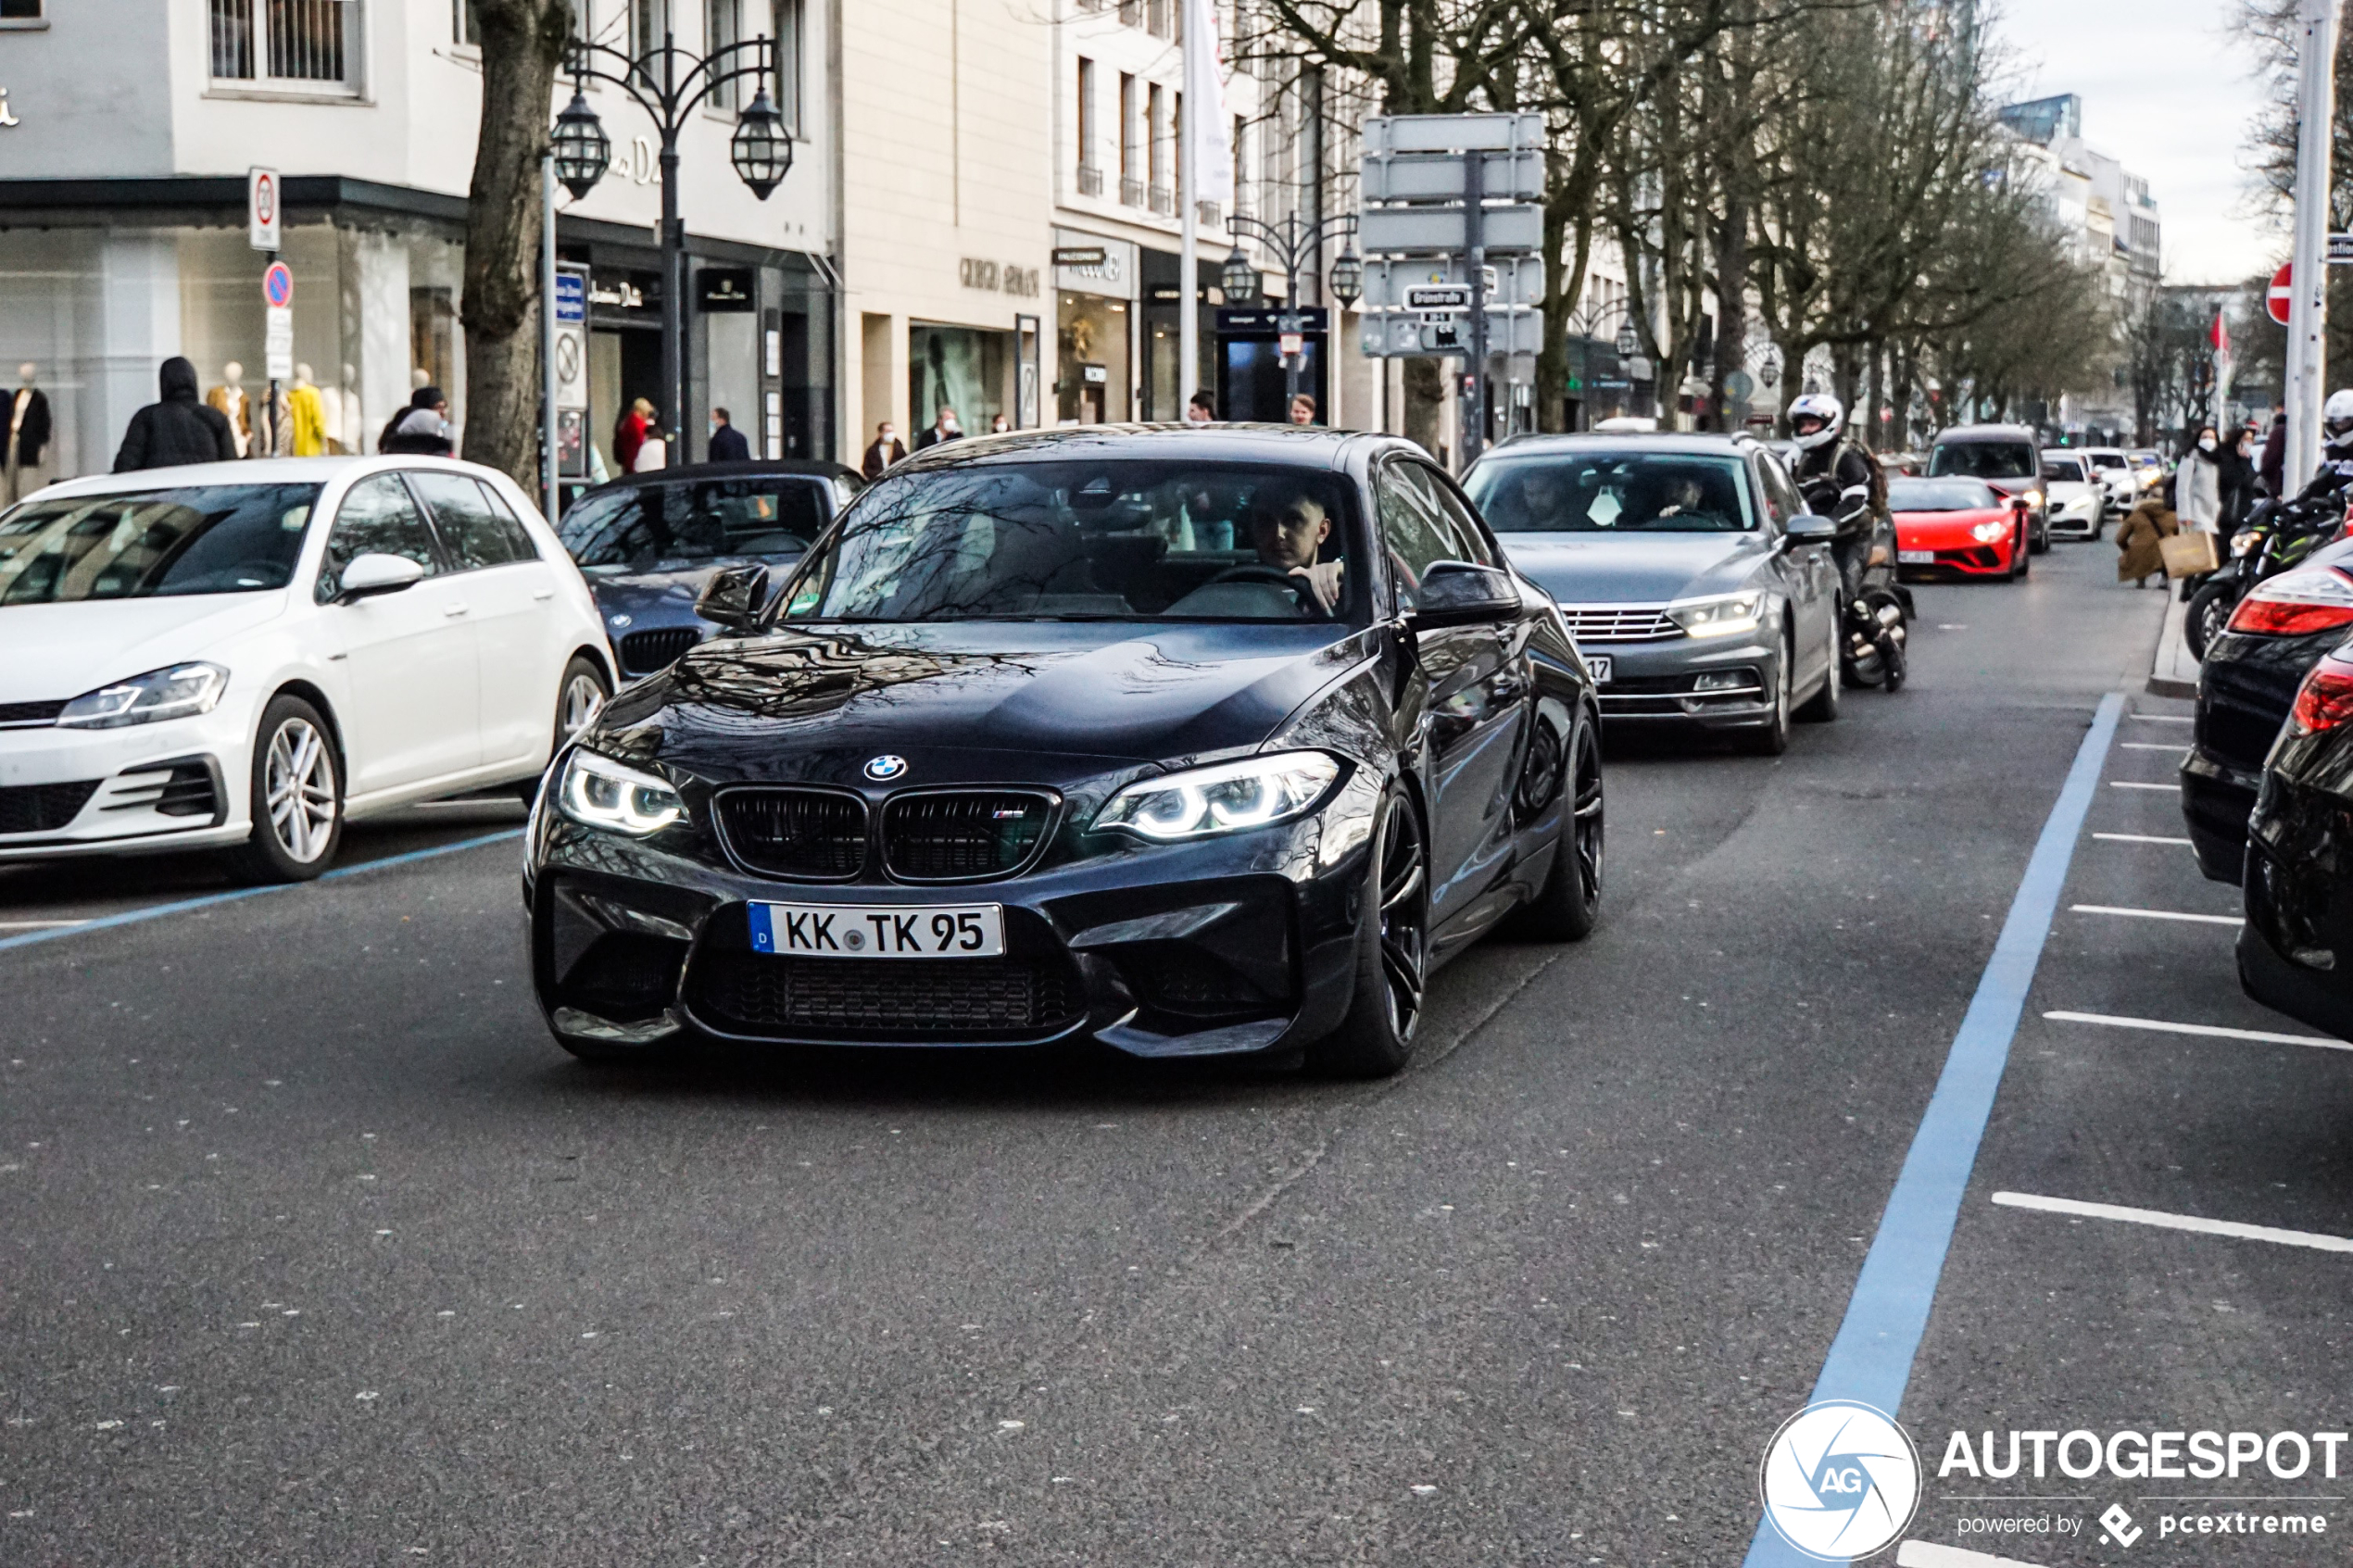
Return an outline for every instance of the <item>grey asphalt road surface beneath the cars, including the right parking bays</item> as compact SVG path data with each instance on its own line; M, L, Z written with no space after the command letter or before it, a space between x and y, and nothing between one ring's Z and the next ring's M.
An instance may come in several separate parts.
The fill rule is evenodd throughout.
M1388 1084L593 1072L532 1009L513 839L0 947L0 1563L1739 1563L2061 778L2148 670L2160 599L2111 562L1922 588L1913 684L1781 759L1614 755L1602 929L1459 959ZM513 823L445 816L355 849ZM1948 1427L2346 1425L2353 1258L1991 1201L2353 1234L2344 1053L2042 1018L2308 1034L2226 926L2068 907L2228 917L2186 849L2092 837L2177 820L2104 788L2075 846L1901 1408L1932 1467ZM0 919L205 875L9 872ZM2061 1490L1932 1476L1913 1535L2009 1552L1948 1502L2005 1486ZM2181 1552L2129 1561L2341 1561Z

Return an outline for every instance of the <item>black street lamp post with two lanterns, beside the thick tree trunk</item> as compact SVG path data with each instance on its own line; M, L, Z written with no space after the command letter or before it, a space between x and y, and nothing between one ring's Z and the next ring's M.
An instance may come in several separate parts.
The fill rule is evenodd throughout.
M619 73L607 68L619 66ZM574 38L567 47L572 71L572 103L555 115L551 141L555 148L555 179L579 200L605 179L612 165L612 139L588 106L584 85L612 82L647 113L661 132L661 390L668 407L668 442L685 456L687 430L687 228L678 216L678 132L706 99L732 82L753 78L758 82L751 103L736 115L734 136L727 141L727 162L751 193L767 200L793 169L793 136L784 127L784 115L767 96L767 85L776 71L776 47L769 38L746 38L720 45L711 54L687 54L671 33L661 35L661 47L642 56L631 56L612 45ZM548 301L546 308L553 308Z

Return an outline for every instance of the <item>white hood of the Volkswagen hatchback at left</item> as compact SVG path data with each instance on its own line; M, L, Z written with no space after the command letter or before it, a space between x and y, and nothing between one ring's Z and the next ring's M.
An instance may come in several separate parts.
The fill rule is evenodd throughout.
M125 675L219 658L221 642L285 614L285 590L82 599L0 609L0 703L54 703ZM231 665L235 679L235 661Z

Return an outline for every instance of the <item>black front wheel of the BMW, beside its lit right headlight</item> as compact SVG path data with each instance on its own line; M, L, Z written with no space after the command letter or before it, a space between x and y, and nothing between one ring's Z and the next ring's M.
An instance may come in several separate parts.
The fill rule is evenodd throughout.
M1414 1053L1428 985L1431 856L1421 816L1391 790L1372 835L1355 954L1355 999L1337 1030L1308 1046L1315 1072L1386 1079Z

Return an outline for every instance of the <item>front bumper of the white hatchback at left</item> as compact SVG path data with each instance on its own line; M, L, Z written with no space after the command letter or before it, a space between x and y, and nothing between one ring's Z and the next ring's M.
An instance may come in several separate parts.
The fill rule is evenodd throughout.
M0 729L0 860L146 853L247 837L242 715L122 729Z

